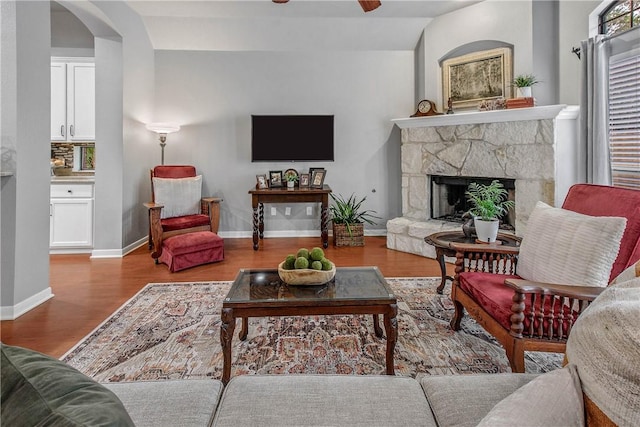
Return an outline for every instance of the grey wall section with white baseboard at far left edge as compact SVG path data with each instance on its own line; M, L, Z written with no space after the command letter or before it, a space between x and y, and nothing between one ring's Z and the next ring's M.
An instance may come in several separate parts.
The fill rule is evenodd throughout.
M14 175L2 178L0 301L14 318L51 297L49 3L3 1L0 13L2 142L15 151Z

